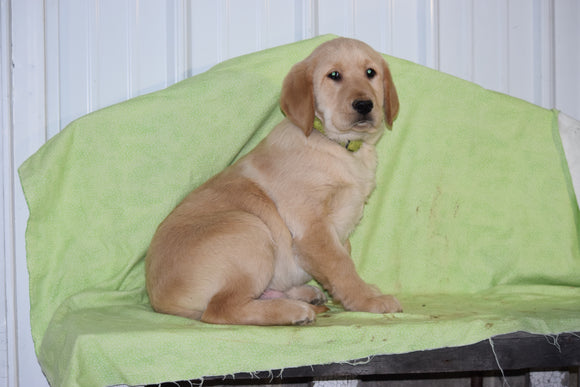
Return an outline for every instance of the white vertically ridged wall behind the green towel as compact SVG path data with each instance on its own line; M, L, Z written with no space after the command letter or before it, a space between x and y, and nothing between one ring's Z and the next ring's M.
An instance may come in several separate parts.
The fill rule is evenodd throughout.
M334 33L580 119L577 0L0 0L0 24L0 386L46 385L16 169L88 112Z

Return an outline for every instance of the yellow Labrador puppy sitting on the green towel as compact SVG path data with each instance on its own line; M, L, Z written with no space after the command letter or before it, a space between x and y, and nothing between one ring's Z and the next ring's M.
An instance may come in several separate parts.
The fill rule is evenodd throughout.
M194 190L147 254L153 308L216 324L307 324L326 310L314 278L345 309L399 312L365 283L349 235L375 187L375 143L399 101L384 59L338 38L294 65L280 124Z

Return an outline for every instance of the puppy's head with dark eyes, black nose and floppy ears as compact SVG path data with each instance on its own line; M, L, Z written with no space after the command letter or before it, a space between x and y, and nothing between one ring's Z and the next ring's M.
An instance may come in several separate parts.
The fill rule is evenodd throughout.
M399 111L383 57L347 38L323 43L294 65L284 80L280 105L307 136L316 116L327 136L340 141L378 139Z

